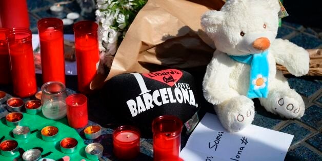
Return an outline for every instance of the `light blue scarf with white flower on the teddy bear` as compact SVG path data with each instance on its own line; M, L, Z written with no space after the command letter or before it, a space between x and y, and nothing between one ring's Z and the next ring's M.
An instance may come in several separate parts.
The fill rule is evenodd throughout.
M237 62L250 65L249 89L247 93L248 98L267 98L269 73L267 54L268 51L245 56L229 55L230 58Z

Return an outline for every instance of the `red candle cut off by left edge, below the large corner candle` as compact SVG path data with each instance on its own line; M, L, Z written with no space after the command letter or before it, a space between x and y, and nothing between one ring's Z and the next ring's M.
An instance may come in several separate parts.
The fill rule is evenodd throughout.
M9 29L0 28L0 84L10 84L11 73L9 64L9 50L7 35L9 34Z

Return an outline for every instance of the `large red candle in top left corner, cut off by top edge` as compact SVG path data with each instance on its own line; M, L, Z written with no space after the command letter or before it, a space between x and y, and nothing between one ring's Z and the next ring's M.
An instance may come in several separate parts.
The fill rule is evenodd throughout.
M4 28L29 28L26 0L0 1L0 16Z

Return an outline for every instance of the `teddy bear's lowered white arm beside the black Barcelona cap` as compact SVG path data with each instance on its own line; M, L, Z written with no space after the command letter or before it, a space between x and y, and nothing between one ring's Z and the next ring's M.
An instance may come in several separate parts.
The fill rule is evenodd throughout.
M229 87L231 66L233 66L233 62L224 53L215 54L207 66L203 91L204 97L209 103L218 105L239 95L236 90Z

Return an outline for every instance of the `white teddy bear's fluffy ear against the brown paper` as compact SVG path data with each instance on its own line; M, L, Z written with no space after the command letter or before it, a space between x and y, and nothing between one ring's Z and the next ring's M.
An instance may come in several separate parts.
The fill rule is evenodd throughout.
M207 34L216 32L217 26L222 24L225 18L223 11L210 10L201 17L201 26Z

